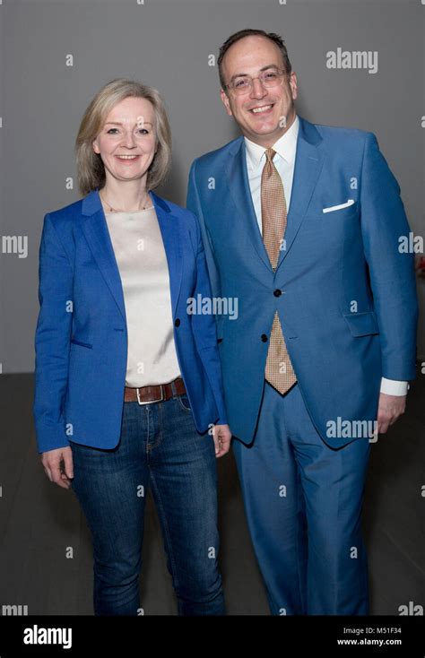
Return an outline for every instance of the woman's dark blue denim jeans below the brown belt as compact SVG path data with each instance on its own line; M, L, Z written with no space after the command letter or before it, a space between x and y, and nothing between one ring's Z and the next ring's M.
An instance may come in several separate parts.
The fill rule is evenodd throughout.
M70 442L72 488L91 530L95 615L140 613L148 487L160 518L180 615L222 615L217 472L212 437L200 435L186 394L124 403L112 450Z

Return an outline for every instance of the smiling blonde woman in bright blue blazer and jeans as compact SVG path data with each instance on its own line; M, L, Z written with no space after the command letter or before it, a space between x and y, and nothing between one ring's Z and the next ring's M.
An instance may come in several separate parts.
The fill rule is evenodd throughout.
M215 457L231 435L214 318L186 312L211 297L199 225L152 193L170 141L156 90L109 82L76 140L84 198L48 213L41 238L37 440L91 529L96 615L140 613L150 485L179 614L224 613Z

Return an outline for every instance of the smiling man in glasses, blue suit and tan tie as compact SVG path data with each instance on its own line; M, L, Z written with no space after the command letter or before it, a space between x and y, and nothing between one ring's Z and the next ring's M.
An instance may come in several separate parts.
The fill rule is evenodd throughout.
M221 47L242 132L195 160L233 449L273 614L367 614L360 512L374 430L404 411L417 305L400 188L374 134L298 117L282 39ZM377 421L377 422L376 422Z

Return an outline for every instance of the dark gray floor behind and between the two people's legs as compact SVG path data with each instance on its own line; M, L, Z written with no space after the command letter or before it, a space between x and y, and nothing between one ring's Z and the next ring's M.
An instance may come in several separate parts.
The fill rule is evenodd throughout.
M91 541L71 489L46 477L32 425L32 375L0 377L0 614L92 614ZM372 613L425 607L425 377L408 411L372 446L365 503ZM219 460L221 570L230 615L266 615L264 586L245 523L232 455ZM147 501L141 577L146 614L176 614L160 527Z

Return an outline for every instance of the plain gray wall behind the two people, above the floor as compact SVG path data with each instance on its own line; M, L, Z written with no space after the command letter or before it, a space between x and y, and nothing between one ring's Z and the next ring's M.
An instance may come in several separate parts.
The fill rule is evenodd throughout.
M191 161L238 134L221 106L209 56L242 28L282 34L299 78L301 116L377 134L402 187L412 230L423 234L424 13L421 0L3 0L1 232L28 240L28 254L24 241L22 249L16 242L15 253L6 253L2 240L3 373L34 368L42 221L46 212L79 198L74 138L92 96L117 76L160 90L169 109L174 165L158 191L185 204ZM377 73L328 69L326 52L338 47L377 51ZM66 65L69 55L72 66ZM74 189L66 188L70 178ZM424 290L425 280L419 281L422 307ZM422 317L421 359L423 328Z

